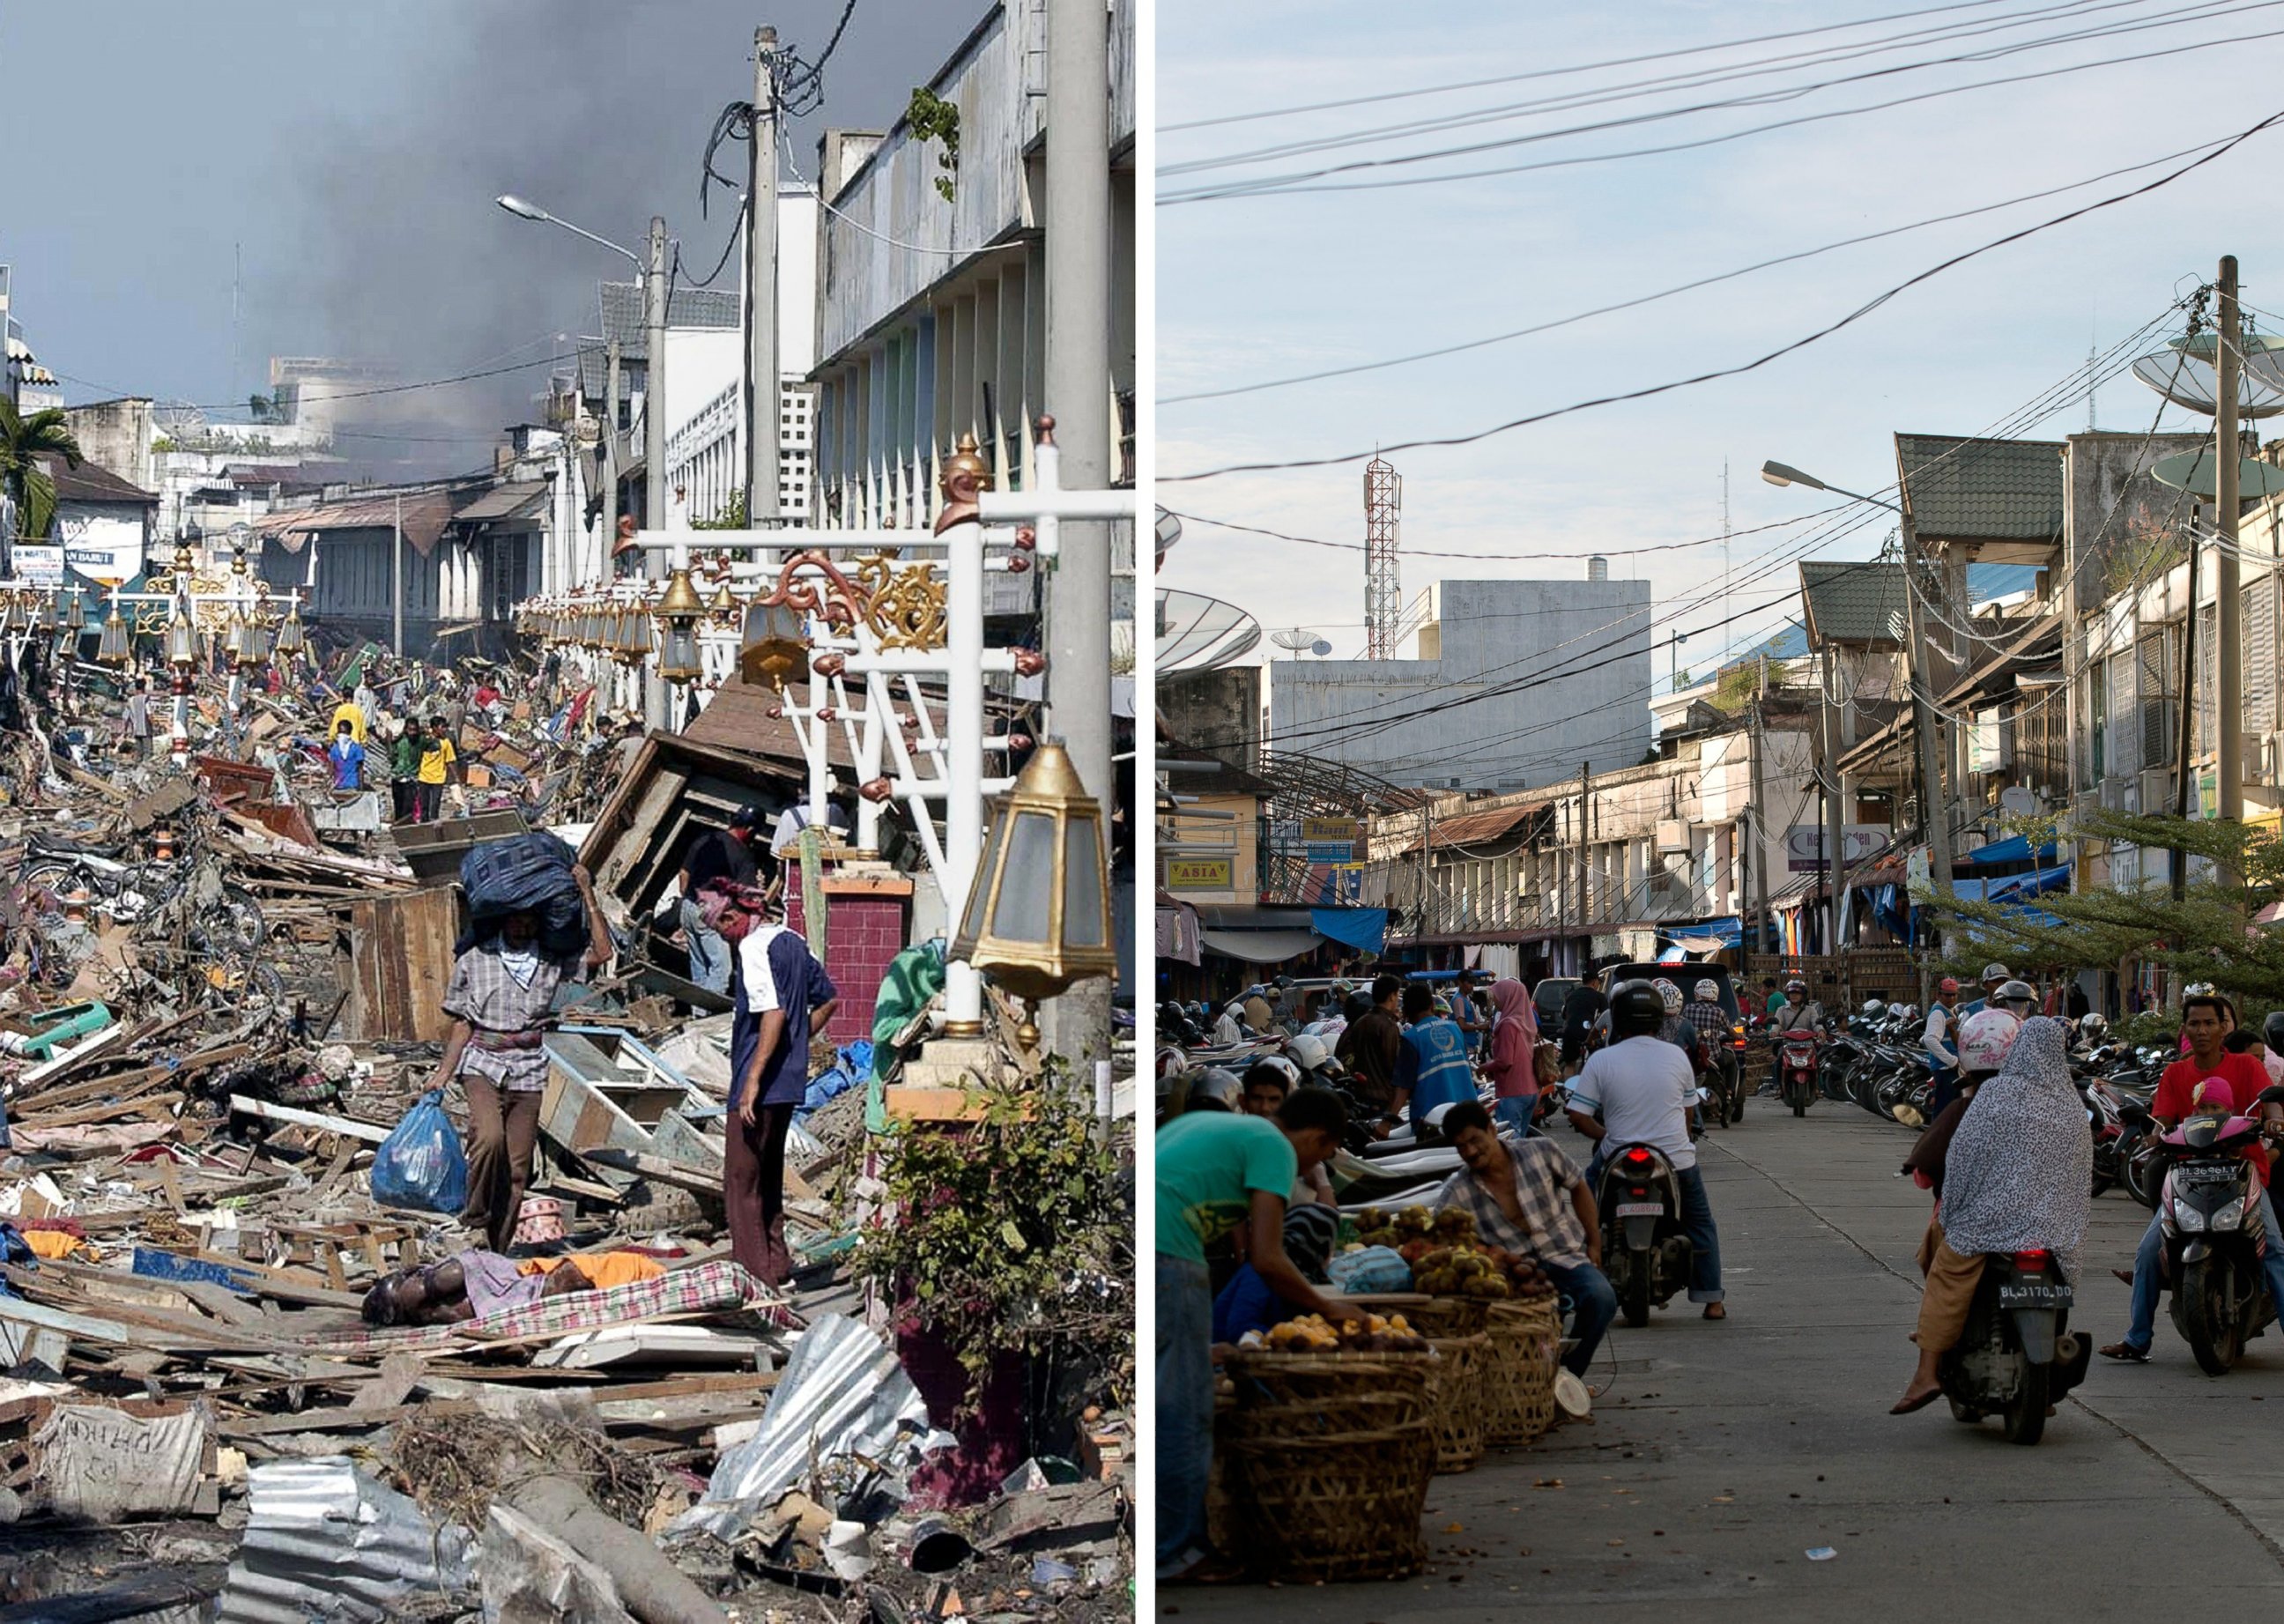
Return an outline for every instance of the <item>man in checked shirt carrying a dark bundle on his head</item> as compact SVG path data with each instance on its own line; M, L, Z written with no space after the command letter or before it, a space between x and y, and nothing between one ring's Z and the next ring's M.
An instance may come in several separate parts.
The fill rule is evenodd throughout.
M436 1062L432 1090L459 1078L468 1094L468 1206L459 1222L507 1252L523 1192L532 1183L539 1142L539 1090L548 1083L546 1028L555 991L566 980L608 964L610 925L594 900L594 877L571 868L587 905L587 946L550 955L539 943L539 916L507 914L498 927L452 964L443 1012L452 1032Z

